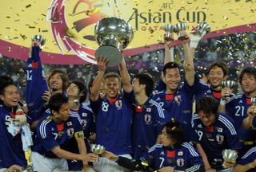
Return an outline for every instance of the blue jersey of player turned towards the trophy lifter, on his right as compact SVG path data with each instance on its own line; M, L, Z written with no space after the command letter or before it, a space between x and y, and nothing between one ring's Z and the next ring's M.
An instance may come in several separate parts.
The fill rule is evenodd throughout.
M144 152L154 146L158 138L158 121L163 116L161 105L150 98L145 104L135 108L132 125L132 146L135 159L140 158Z

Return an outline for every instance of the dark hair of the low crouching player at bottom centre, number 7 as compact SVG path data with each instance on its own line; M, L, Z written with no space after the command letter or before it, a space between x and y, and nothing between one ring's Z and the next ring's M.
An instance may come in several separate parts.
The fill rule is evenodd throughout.
M185 136L182 126L175 119L168 120L162 129L166 127L166 134L174 141L174 147L179 147L185 142Z

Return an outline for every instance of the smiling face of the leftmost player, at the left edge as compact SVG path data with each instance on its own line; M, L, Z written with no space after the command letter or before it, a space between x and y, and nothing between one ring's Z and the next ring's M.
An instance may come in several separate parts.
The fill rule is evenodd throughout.
M3 94L0 95L0 99L9 108L17 107L18 100L20 99L18 88L15 85L10 84L4 89Z

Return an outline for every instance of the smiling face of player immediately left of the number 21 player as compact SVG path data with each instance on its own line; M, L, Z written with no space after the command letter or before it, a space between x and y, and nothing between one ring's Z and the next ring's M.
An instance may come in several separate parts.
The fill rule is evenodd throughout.
M226 80L226 76L224 76L224 72L222 68L217 66L210 69L210 72L207 78L212 88L218 88L219 86L222 85L222 81Z

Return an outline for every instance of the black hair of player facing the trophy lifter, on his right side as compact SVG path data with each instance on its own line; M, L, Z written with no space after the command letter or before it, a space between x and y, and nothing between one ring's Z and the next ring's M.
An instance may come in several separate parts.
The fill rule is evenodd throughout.
M152 79L150 74L142 72L135 75L134 78L138 79L139 84L145 84L146 96L150 96L154 89L154 80Z

